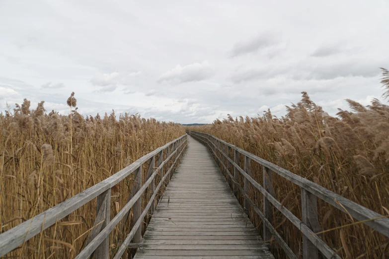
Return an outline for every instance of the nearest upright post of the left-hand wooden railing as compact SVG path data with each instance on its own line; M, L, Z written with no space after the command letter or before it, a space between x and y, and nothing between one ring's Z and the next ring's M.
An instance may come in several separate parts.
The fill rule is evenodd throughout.
M101 212L100 212L101 209ZM100 212L100 213L99 213ZM101 230L104 229L111 220L111 189L97 196L96 215L104 215L104 222L101 223ZM101 231L100 230L100 231ZM109 236L96 248L95 258L109 258Z

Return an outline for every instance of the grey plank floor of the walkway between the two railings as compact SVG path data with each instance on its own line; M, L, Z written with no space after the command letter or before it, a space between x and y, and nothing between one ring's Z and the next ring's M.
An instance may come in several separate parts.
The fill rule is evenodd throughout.
M274 259L209 150L188 139L135 259Z

